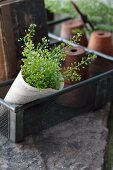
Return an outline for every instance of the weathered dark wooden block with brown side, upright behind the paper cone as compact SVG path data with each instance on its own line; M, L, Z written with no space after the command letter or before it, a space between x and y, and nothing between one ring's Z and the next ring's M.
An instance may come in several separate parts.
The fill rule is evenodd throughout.
M18 39L31 23L37 25L34 39L37 43L48 32L43 0L0 1L0 81L17 75L22 57Z

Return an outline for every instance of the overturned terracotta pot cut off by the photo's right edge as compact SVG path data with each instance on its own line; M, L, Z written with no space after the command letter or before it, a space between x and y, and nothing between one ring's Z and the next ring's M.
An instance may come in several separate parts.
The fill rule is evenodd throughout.
M112 56L112 34L105 31L93 32L89 40L88 48ZM110 69L113 69L113 63L102 58L97 58L90 65L89 72L90 76L92 77Z

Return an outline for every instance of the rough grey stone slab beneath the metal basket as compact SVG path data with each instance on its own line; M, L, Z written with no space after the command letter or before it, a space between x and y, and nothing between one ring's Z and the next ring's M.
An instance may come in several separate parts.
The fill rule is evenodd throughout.
M15 144L0 136L0 170L101 170L109 105Z

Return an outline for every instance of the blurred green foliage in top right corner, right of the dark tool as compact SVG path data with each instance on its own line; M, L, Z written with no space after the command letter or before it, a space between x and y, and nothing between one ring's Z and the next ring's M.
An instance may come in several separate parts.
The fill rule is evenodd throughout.
M95 29L113 30L113 3L103 0L77 0L77 5L95 25Z

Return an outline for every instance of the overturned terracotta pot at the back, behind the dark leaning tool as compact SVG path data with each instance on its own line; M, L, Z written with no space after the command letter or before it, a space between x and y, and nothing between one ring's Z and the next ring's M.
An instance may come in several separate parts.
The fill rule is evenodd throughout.
M79 44L83 46L87 46L88 41L87 41L86 34L84 31L84 23L81 20L69 20L69 21L64 22L61 25L60 35L61 37L65 39L70 39L75 35L74 31L77 31L78 29L83 31L83 35L80 39Z

